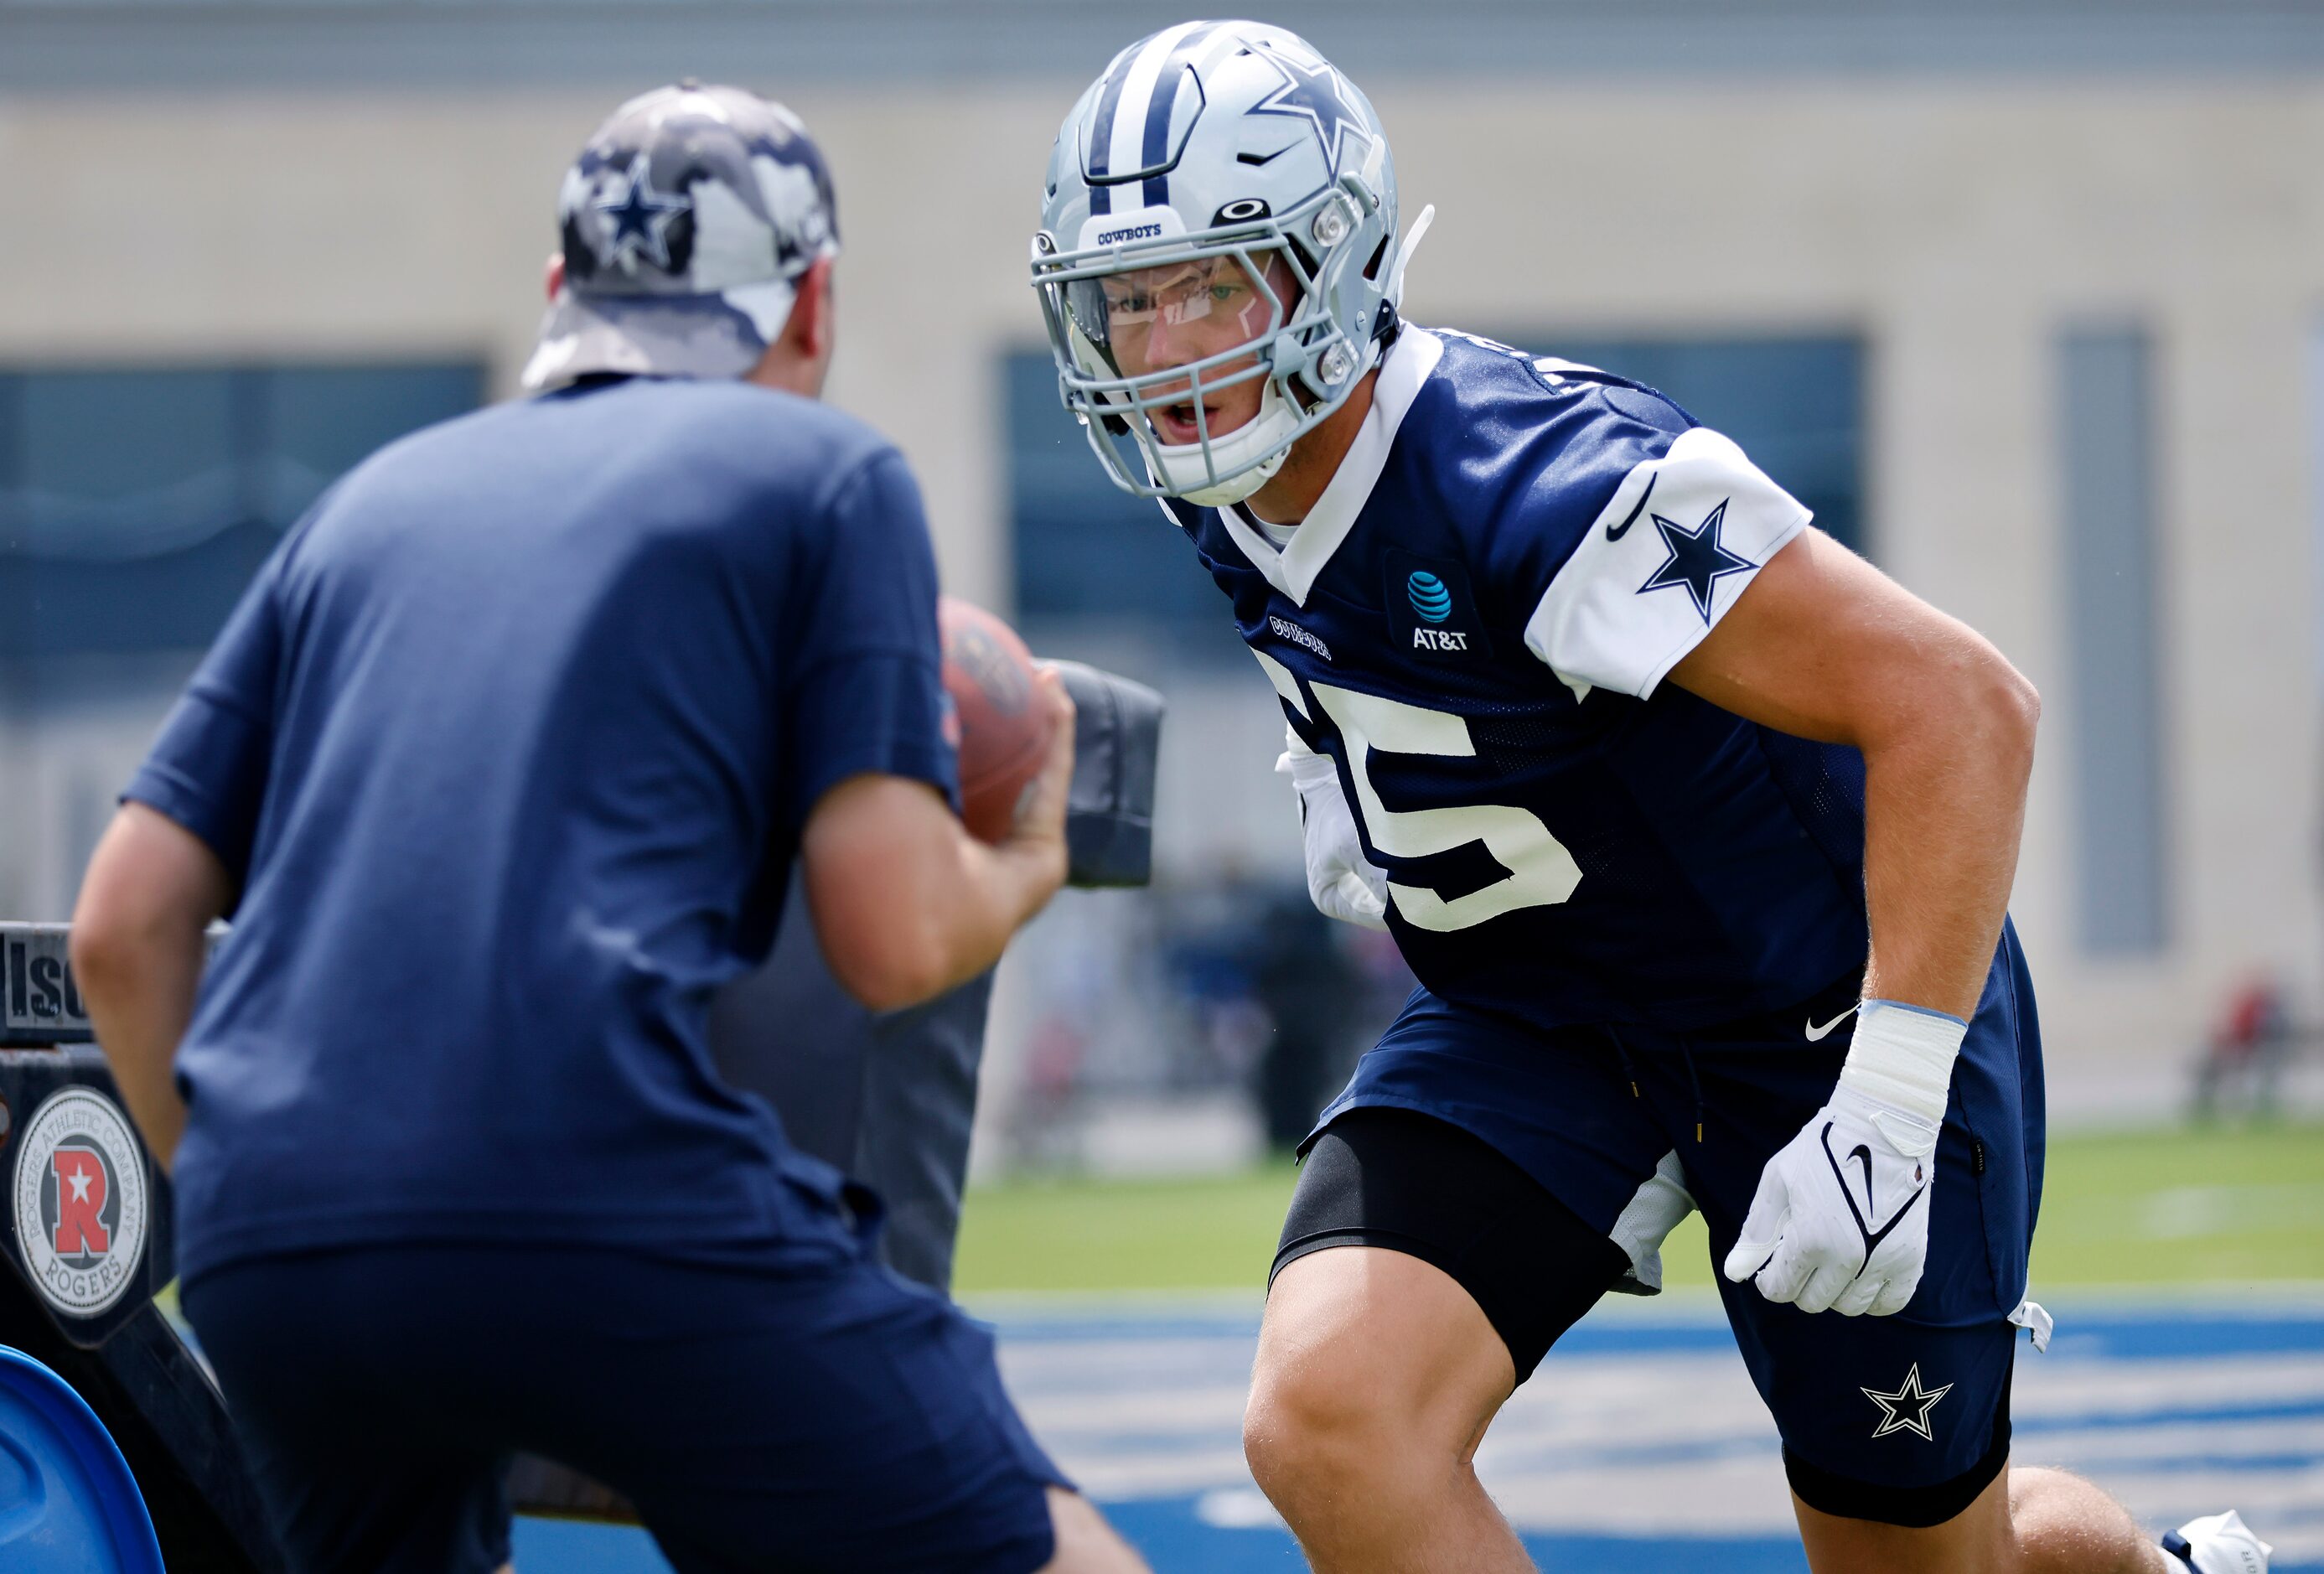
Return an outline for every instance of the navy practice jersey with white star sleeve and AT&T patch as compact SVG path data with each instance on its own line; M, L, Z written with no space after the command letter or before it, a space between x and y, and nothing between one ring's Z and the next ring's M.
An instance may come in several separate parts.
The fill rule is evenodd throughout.
M1659 393L1406 328L1281 551L1167 507L1436 995L1685 1030L1864 963L1862 758L1662 684L1808 511Z

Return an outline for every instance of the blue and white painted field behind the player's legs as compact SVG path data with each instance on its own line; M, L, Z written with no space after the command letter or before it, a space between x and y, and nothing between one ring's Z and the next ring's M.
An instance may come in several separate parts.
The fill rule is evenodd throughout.
M1306 1567L1241 1467L1255 1297L985 1311L1034 1432L1155 1574ZM2050 1353L2020 1351L2020 1462L2082 1469L2154 1528L2243 1509L2278 1541L2275 1574L2324 1574L2324 1302L2066 1297L2057 1311ZM1613 1307L1559 1342L1478 1453L1543 1569L1803 1574L1773 1428L1731 1351L1710 1300ZM1559 1421L1606 1395L1620 1423ZM1573 1481L1606 1490L1543 1493ZM1599 1500L1624 1495L1634 1507ZM518 1523L516 1560L521 1574L669 1572L639 1530L548 1521Z

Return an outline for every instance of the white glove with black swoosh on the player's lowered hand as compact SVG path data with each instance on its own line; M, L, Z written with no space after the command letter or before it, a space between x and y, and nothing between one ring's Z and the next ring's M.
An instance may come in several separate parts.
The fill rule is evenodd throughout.
M1727 1279L1801 1311L1903 1311L1929 1260L1929 1190L1957 1016L1868 1000L1831 1100L1759 1174Z

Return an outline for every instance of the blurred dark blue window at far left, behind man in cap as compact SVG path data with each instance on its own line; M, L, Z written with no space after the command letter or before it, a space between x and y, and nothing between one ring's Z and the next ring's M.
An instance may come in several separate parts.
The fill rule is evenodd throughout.
M349 465L479 365L0 372L0 918L63 918L188 670Z

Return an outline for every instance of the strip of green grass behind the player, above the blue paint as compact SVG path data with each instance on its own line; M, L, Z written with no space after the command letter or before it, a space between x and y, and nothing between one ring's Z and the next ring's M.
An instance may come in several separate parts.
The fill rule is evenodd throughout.
M1290 1165L1188 1181L1013 1181L969 1193L957 1288L1255 1290ZM1664 1246L1669 1283L1708 1286L1701 1218ZM2038 1286L2324 1279L2324 1125L2057 1137Z

